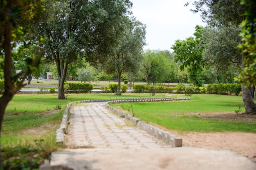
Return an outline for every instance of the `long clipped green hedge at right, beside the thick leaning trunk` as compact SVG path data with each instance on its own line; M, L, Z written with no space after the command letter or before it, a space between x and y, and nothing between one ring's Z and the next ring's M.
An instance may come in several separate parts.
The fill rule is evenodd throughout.
M242 91L240 84L208 84L207 93L209 94L238 94Z

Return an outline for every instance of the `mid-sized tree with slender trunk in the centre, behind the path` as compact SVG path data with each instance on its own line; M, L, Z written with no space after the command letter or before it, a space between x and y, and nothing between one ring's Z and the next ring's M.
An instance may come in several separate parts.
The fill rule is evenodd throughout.
M141 52L145 43L146 28L135 18L124 17L120 22L123 25L123 36L115 44L115 50L110 54L104 65L107 73L118 74L118 87L116 95L121 95L121 74L125 72L136 73L142 61Z

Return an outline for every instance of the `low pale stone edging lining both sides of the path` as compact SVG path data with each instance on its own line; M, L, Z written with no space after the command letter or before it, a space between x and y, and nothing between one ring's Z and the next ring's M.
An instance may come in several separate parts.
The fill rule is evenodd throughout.
M141 129L148 132L150 135L153 135L157 139L164 141L166 144L169 144L172 147L181 147L182 146L182 138L177 137L176 135L173 135L169 132L159 129L155 126L152 126L150 124L142 122L139 119L134 118L131 115L128 115L124 111L120 111L120 110L116 109L115 107L110 106L108 103L109 102L112 102L112 103L159 102L159 101L189 100L189 99L191 99L191 98L128 98L128 99L109 99L109 100L82 100L79 102L81 102L81 103L83 103L83 102L106 102L105 107L116 112L120 116L124 116L127 120L132 121L132 123L136 124ZM70 111L70 106L71 106L71 103L67 104L65 112L63 114L61 127L56 130L56 143L64 144L64 142L65 142L64 134L67 134L67 121L69 119L68 113Z

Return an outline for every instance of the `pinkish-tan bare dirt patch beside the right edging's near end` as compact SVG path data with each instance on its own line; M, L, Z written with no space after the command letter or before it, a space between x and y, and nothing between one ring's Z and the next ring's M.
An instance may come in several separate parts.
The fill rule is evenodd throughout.
M254 133L198 133L182 137L183 147L232 150L256 162L256 134Z

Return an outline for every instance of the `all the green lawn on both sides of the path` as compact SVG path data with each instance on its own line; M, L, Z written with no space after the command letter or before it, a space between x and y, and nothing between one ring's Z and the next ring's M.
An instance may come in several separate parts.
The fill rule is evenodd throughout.
M171 95L182 98L184 95ZM57 94L18 94L7 106L2 125L1 151L5 169L38 168L52 151L56 129L68 103L92 99L145 98L149 94L68 94L58 100ZM154 97L170 97L156 94ZM130 110L148 123L165 129L186 132L240 131L256 133L256 116L240 116L245 111L241 96L194 94L191 100L169 102L136 102L115 104ZM111 104L113 105L113 104ZM132 109L131 109L132 106ZM229 115L227 117L227 114ZM224 116L223 116L224 115ZM226 117L225 117L226 116ZM36 156L35 156L36 155Z

